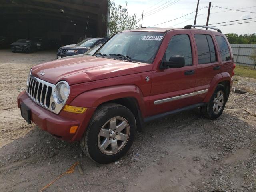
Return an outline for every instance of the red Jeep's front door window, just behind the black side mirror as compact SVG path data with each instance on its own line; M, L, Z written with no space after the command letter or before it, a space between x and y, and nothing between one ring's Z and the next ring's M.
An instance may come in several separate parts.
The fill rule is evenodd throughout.
M174 35L166 49L165 60L169 60L174 55L181 55L185 58L185 66L192 65L191 44L188 35Z

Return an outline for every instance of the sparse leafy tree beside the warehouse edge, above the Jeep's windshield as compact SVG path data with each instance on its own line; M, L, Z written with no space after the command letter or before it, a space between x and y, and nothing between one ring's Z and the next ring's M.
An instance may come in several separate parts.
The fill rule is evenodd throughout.
M127 2L125 2L127 6ZM111 0L108 1L109 20L104 18L109 28L109 35L112 36L120 31L138 28L140 19L136 19L136 14L129 15L126 7L116 6Z

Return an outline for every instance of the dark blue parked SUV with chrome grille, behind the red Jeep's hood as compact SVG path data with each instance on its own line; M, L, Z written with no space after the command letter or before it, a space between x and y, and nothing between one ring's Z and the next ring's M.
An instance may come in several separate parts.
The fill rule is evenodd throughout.
M84 54L86 51L93 48L94 46L98 44L103 44L104 42L106 42L106 40L108 40L108 38L88 38L76 44L75 46L60 47L57 52L57 59L66 56Z

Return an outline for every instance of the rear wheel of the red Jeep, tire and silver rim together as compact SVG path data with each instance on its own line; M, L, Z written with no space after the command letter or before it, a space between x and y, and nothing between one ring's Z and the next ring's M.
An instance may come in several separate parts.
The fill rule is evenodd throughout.
M226 104L226 89L223 85L218 84L212 97L206 106L200 108L206 118L215 119L219 117Z

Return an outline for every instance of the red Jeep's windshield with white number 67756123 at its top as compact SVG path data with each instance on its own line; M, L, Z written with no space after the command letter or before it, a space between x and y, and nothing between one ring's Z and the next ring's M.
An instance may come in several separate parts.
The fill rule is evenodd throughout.
M161 32L121 32L106 42L97 53L114 58L122 55L124 60L129 58L136 62L152 63L163 36Z

